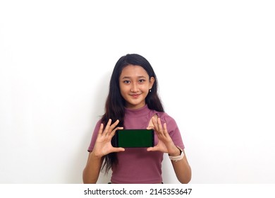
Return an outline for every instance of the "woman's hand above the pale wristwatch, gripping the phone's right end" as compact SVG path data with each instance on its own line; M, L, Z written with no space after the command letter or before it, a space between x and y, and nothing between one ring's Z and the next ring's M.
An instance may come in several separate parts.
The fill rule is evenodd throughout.
M155 117L152 117L152 123L159 142L156 146L147 148L147 151L161 151L163 153L175 153L175 151L178 151L178 148L173 144L171 136L169 136L166 123L162 126L160 118L156 120ZM147 129L152 129L152 127Z

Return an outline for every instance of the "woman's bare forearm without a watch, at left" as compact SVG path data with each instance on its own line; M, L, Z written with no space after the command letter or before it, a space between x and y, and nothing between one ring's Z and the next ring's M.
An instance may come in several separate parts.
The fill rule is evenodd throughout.
M95 184L99 177L100 169L102 168L103 157L94 156L94 153L90 152L87 165L83 170L83 183Z

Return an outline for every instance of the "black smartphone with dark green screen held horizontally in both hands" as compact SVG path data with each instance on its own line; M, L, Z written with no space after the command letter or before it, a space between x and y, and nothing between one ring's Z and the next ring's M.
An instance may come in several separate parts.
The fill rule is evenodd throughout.
M154 146L153 129L121 129L113 137L114 147L142 148Z

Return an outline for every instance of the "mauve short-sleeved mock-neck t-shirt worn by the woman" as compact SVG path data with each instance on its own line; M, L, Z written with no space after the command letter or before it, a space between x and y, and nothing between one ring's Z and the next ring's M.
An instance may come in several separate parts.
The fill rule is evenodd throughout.
M166 112L157 112L150 110L147 105L138 110L126 108L124 117L124 129L146 129L151 118L156 115L161 119L161 124L166 122L167 130L173 143L180 148L184 148L181 132L178 129L176 121ZM88 151L94 148L94 142L101 120L94 127L92 141ZM157 135L154 135L154 145L157 145ZM162 182L161 162L163 154L160 151L147 151L147 148L126 148L125 151L117 153L118 164L111 168L111 182L123 184L150 184Z

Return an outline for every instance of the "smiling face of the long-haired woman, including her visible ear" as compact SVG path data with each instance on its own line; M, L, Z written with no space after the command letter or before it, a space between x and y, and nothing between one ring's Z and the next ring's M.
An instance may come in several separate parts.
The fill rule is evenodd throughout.
M119 87L126 100L126 107L138 109L145 105L145 98L154 84L154 77L149 78L147 71L138 65L128 65L121 71Z

